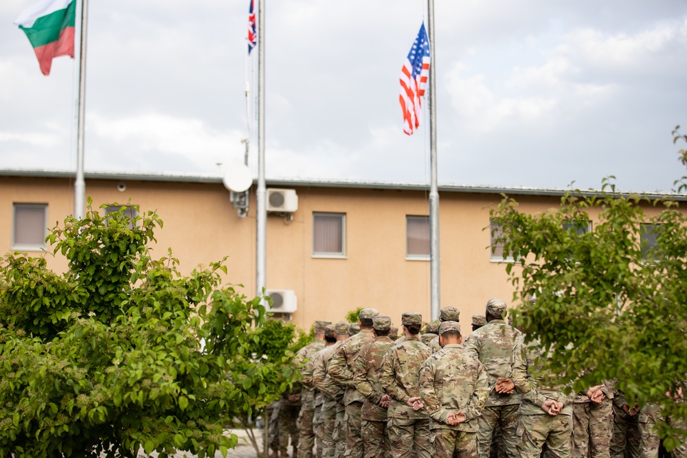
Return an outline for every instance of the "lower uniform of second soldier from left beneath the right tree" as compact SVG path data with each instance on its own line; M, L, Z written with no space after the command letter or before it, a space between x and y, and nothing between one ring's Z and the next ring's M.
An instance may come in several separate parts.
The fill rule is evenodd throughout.
M594 404L587 393L577 393L572 404L573 458L609 458L613 431L613 389L600 387L604 400Z

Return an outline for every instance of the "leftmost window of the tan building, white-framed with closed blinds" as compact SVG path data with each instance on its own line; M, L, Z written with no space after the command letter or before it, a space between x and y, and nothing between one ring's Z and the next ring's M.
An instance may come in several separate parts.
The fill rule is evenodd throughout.
M12 249L41 251L47 237L47 205L35 203L14 204Z

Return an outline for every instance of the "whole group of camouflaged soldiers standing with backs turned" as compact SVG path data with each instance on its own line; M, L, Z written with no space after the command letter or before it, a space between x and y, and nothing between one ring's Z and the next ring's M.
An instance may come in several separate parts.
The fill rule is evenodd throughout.
M535 364L550 355L506 314L490 299L466 339L455 307L423 334L418 312L402 314L401 336L372 308L358 323L315 321L294 360L300 386L273 415L272 457L287 458L289 436L293 458L658 457L656 407L629 406L611 382L543 386Z

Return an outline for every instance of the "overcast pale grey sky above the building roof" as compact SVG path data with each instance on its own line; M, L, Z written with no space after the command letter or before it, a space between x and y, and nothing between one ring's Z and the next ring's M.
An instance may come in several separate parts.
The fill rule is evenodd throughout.
M12 25L35 1L0 2L0 168L75 170L76 62L43 76ZM266 3L267 178L429 183L428 117L407 137L398 104L426 2ZM248 6L89 1L87 171L243 161ZM613 174L622 190L668 191L685 174L671 130L687 133L686 1L436 0L435 13L440 184Z

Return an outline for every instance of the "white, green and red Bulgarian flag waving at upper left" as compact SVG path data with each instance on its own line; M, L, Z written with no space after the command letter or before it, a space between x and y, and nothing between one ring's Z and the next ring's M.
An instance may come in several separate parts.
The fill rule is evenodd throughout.
M76 0L41 0L14 21L36 51L43 75L50 74L52 59L74 58Z

